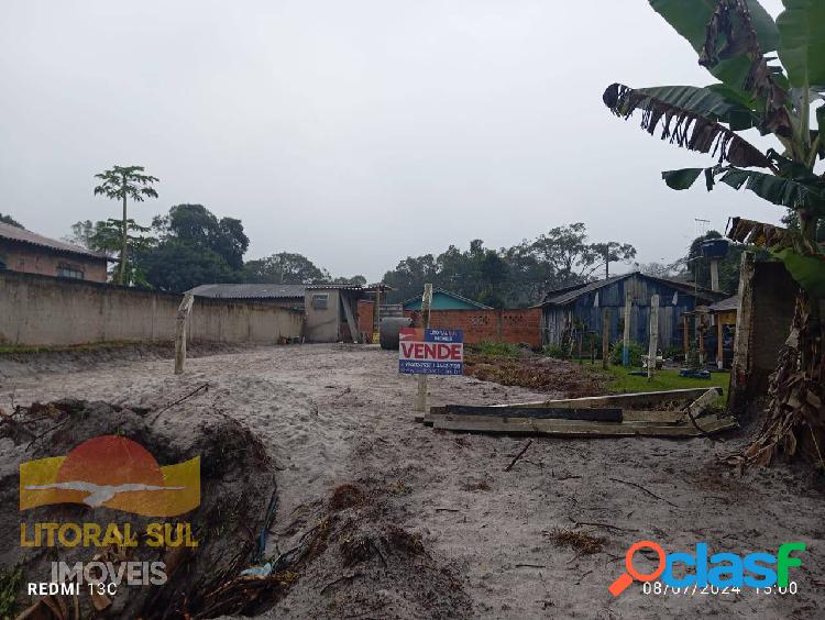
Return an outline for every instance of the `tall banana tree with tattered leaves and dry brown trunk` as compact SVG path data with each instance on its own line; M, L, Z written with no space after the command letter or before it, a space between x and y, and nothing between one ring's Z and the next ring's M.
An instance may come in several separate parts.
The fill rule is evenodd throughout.
M688 189L702 177L708 191L745 188L795 213L798 230L735 218L727 233L768 247L800 285L765 421L741 458L767 464L778 453L803 453L825 466L825 251L816 237L825 219L825 175L816 169L825 158L825 1L783 4L774 21L757 0L650 0L715 81L613 84L604 102L624 119L639 111L651 135L713 158L704 168L662 173L669 187ZM772 136L773 147L758 148L740 135L746 130Z

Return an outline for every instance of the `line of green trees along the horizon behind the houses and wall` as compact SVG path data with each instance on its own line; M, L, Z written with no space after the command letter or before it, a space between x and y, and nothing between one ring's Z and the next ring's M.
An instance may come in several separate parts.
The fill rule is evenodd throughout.
M241 220L218 217L202 204L176 204L148 225L129 217L129 201L157 198L158 179L142 166L114 166L96 178L95 193L117 200L122 217L79 221L66 241L114 258L111 280L125 286L183 292L201 284L366 284L361 275L333 276L306 256L280 252L244 261L250 240ZM20 225L10 215L0 221ZM711 231L691 244L688 255L672 265L651 263L641 270L661 277L683 277L710 287L710 264L701 256L701 242L722 235ZM733 250L721 268L722 288L735 292L739 259L745 246ZM548 291L608 276L614 263L629 264L636 248L618 241L593 243L582 222L550 229L512 247L486 247L473 240L466 250L450 245L439 254L408 256L385 273L393 287L391 302L420 295L431 283L494 308L526 307L540 302Z

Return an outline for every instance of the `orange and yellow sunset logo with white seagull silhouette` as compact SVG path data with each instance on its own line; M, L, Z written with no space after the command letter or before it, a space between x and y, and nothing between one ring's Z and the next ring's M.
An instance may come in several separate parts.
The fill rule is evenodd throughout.
M21 463L20 510L51 503L177 517L200 505L200 457L162 467L130 439L94 438L66 456Z

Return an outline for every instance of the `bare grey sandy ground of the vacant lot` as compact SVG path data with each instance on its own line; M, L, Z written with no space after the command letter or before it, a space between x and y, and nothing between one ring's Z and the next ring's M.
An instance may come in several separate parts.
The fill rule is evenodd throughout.
M538 439L504 472L525 439L441 433L415 423L415 379L399 376L396 367L395 354L353 345L200 357L190 359L180 377L172 374L168 359L111 362L2 379L0 403L8 406L12 397L20 405L75 397L154 409L209 383L206 394L164 417L195 418L218 408L243 420L271 446L283 468L275 531L286 532L273 535L272 553L289 547L300 533L300 514L332 488L377 481L392 494L397 522L422 533L427 547L462 580L476 617L825 613L822 485L804 468L787 466L733 476L717 457L740 446L745 433L724 442ZM537 396L469 377L432 378L430 386L432 405ZM581 555L553 542L548 534L556 530L601 536L604 550ZM807 550L803 566L791 573L799 586L794 596L752 590L656 596L634 584L614 599L607 586L620 574L627 547L644 539L667 551L707 542L712 552L776 553L792 541L804 542ZM645 568L642 557L638 565ZM345 587L369 586L353 580ZM268 615L318 616L317 601L309 605L307 597L322 596L330 595L308 593L298 584Z

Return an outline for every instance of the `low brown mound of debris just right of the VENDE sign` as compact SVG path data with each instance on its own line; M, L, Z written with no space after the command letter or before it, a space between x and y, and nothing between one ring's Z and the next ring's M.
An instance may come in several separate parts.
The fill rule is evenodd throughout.
M608 377L588 368L525 352L519 357L468 354L464 374L483 381L564 392L568 398L605 394Z

